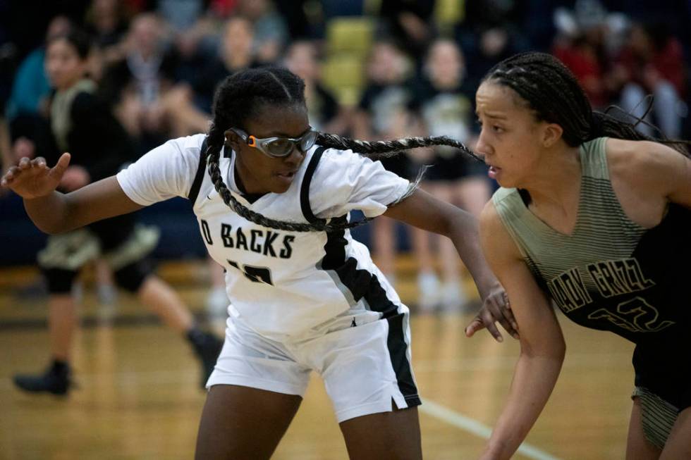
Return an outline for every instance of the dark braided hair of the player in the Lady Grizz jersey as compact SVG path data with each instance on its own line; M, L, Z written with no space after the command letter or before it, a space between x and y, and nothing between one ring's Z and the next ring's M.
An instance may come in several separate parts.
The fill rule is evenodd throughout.
M604 113L593 111L573 73L550 54L516 54L491 68L482 81L513 89L521 102L532 109L537 120L557 123L563 128L564 142L570 147L606 136L660 142L689 156L691 142L644 135L635 129L638 123L644 122L641 118L625 113L635 119L635 123L627 123L609 115L616 106Z

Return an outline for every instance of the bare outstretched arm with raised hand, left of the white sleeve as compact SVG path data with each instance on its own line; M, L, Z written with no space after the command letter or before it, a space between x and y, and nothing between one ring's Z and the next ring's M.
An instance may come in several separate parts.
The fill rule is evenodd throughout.
M127 197L115 176L68 194L56 192L69 163L70 154L63 154L53 168L44 158L22 158L0 182L24 199L29 217L40 230L67 232L142 208Z

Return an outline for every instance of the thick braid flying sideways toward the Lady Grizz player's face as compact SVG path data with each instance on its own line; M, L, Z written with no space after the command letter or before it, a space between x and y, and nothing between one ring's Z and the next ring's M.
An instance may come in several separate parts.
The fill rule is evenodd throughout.
M334 149L350 149L357 154L374 159L396 156L400 154L400 151L417 149L418 147L446 145L448 147L460 149L460 151L463 151L464 154L472 156L472 158L475 158L475 160L484 163L484 160L477 156L475 152L466 147L465 144L446 136L405 137L404 139L396 140L361 141L357 139L348 139L348 137L341 137L334 134L328 134L326 132L319 132L319 135L317 135L317 144Z

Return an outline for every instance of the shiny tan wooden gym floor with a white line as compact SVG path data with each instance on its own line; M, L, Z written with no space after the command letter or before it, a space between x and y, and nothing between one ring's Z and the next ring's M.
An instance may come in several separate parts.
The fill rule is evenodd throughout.
M204 318L205 264L166 263L159 274ZM415 313L415 263L397 265L398 291ZM101 306L85 280L67 398L13 387L17 372L47 365L45 298L32 294L34 268L0 270L0 459L191 459L204 403L190 347L120 292ZM501 411L518 343L487 332L472 339L470 313L414 314L412 356L426 459L477 458ZM568 344L561 378L516 459L622 459L630 411L632 345L560 315ZM210 325L219 332L223 318ZM506 337L506 335L505 335ZM313 378L274 454L278 460L347 459L331 404Z

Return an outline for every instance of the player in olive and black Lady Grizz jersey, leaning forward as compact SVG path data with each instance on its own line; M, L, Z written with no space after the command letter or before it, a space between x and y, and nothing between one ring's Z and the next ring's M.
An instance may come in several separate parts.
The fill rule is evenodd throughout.
M691 458L685 146L644 140L593 113L575 77L547 54L502 61L476 99L477 151L502 187L482 213L482 245L521 343L482 458L515 452L556 383L565 343L550 301L576 323L636 344L627 459Z

